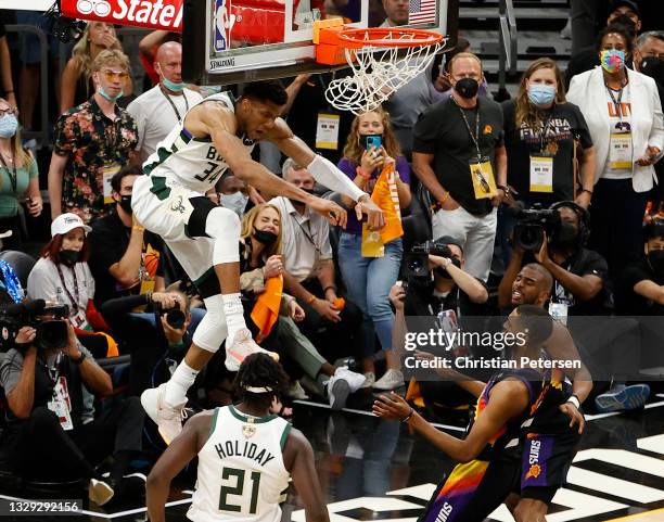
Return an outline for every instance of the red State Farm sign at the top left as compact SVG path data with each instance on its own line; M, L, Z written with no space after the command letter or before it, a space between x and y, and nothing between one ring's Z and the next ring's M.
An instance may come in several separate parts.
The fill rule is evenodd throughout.
M153 29L182 30L183 0L61 0L61 12L71 18Z

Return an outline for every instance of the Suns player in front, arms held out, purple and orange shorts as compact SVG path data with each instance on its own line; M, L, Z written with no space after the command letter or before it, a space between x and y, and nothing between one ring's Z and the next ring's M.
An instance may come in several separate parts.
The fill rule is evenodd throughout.
M514 360L521 361L521 357L539 360L544 343L551 339L554 324L544 308L522 305L510 314L505 328L508 332L526 338L523 345L512 347ZM451 371L447 377L454 377L454 373ZM439 432L394 393L379 397L373 406L375 415L408 422L452 459L461 462L436 488L420 522L481 522L508 498L521 478L521 426L542 404L560 407L558 396L564 394L563 377L558 370L542 375L538 370L520 368L499 371L487 384L459 381L459 385L478 397L475 416L471 419L464 440ZM549 407L546 409L550 411ZM561 415L570 413L561 411ZM565 422L565 426L578 423L580 433L583 416L570 417L572 421ZM566 440L564 442L569 443ZM575 444L576 440L572 448ZM556 456L560 455L569 455L569 446L558 446ZM541 457L545 457L544 453ZM521 511L524 512L526 508L532 507L524 506ZM518 520L539 522L539 519Z

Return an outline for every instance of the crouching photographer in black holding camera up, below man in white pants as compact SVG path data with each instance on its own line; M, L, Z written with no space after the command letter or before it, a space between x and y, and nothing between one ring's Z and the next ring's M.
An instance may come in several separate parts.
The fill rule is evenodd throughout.
M440 324L446 320L444 317L454 323L457 320L463 323L464 318L477 318L485 314L484 305L488 301L486 287L464 271L464 265L461 242L449 235L417 245L412 253L406 255L407 283L395 284L390 292L390 301L396 309L395 346L404 345L408 331L444 328ZM433 353L436 348L418 347ZM427 407L456 408L474 400L472 395L452 382L440 382L435 375L435 371L431 370L431 380L418 381Z

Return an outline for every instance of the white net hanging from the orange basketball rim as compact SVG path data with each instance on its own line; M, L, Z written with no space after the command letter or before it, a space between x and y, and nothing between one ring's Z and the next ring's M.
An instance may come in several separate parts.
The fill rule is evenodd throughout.
M332 80L325 98L335 109L356 115L375 110L397 89L422 73L444 43L435 34L423 39L421 34L403 29L385 30L380 35L380 40L374 41L371 41L369 31L355 31L353 36L366 43L359 49L345 48L352 74ZM401 44L409 40L418 43L390 46L391 40Z

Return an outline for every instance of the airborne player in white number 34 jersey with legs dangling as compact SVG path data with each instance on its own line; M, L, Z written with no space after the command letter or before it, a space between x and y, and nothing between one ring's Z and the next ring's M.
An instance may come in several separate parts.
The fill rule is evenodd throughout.
M258 190L303 202L332 224L345 226L346 212L337 204L283 181L252 160L255 143L268 140L298 165L306 165L319 183L357 201L358 218L366 214L369 227L384 225L382 211L362 190L293 136L279 117L286 100L277 80L246 85L239 100L228 93L206 98L157 145L143 166L148 176L133 186L131 207L137 226L165 240L207 308L171 379L141 396L166 443L182 430L187 391L224 340L228 340L226 367L230 371L237 371L248 354L265 352L252 340L240 301L240 219L205 196L219 176L230 169Z

